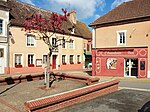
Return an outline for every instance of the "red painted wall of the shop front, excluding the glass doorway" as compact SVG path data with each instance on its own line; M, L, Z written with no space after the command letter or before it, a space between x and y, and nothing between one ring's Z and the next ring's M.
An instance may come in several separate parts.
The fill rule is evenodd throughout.
M95 54L96 53L96 54ZM125 75L125 59L138 59L137 77L147 78L148 48L99 48L93 50L93 75L117 76ZM113 66L109 66L109 59L115 60ZM141 70L140 62L145 61L145 69ZM109 67L111 67L109 69ZM96 72L95 72L96 71Z

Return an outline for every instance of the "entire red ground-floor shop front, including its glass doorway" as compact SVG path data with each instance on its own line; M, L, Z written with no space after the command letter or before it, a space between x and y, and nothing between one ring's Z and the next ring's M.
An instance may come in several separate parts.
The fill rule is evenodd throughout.
M92 75L147 78L148 48L97 48L92 51Z

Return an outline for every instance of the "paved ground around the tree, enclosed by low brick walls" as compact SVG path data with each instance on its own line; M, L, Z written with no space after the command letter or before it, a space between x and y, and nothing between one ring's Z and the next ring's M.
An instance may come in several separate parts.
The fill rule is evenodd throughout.
M24 112L24 102L86 86L84 83L55 81L49 90L43 89L44 80L0 86L0 112Z

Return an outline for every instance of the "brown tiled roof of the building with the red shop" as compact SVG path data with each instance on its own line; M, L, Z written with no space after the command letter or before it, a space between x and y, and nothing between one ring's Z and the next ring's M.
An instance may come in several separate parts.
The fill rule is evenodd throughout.
M124 2L118 7L112 9L92 22L89 26L139 19L143 17L150 17L150 0L132 0Z

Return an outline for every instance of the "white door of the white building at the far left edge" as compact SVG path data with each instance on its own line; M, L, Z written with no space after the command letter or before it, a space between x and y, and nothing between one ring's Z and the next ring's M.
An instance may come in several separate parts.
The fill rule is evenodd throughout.
M0 48L0 74L4 74L4 49Z

